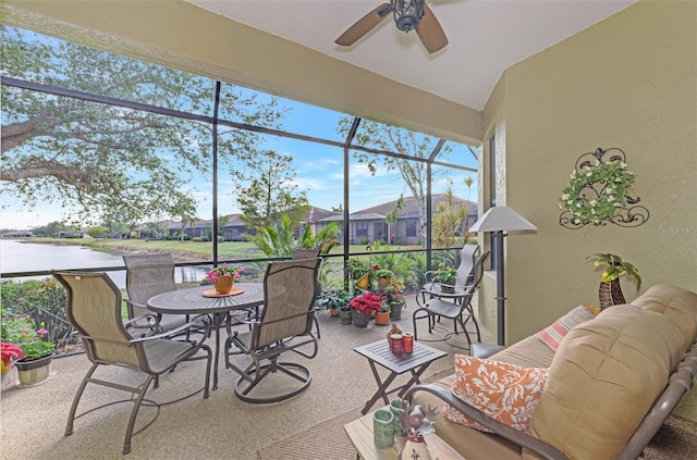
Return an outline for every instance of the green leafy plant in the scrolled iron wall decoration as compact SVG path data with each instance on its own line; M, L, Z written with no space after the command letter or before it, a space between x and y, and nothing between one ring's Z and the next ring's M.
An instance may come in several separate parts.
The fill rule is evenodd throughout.
M634 173L620 160L584 165L571 173L571 184L564 188L560 208L582 224L610 221L617 208L627 206L634 179Z

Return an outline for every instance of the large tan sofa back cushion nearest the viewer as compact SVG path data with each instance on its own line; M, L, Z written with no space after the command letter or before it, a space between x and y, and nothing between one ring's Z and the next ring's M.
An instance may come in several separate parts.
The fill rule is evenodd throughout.
M665 387L684 340L674 321L635 306L579 324L552 360L529 433L576 460L614 459Z

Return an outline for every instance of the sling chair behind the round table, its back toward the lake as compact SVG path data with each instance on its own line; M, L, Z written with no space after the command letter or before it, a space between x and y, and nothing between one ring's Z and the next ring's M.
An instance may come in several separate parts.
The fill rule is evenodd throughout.
M124 256L126 265L126 309L132 327L162 333L180 327L188 321L184 314L154 314L147 308L150 297L176 290L172 254ZM187 337L188 338L188 337Z

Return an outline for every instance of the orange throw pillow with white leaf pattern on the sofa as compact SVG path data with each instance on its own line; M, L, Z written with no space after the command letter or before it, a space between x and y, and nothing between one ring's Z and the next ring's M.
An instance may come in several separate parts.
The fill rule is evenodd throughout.
M506 425L527 431L539 400L547 369L521 368L505 362L455 355L455 381L451 393L465 403ZM482 432L481 426L450 405L443 406L447 420Z

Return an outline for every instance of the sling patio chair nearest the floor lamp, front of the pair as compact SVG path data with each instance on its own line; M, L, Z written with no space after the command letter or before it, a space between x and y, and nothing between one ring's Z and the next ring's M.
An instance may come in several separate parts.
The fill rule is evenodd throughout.
M484 262L489 257L491 251L486 251L475 262L474 274L475 278L469 286L467 286L460 296L453 298L433 297L426 302L423 307L416 309L412 315L412 322L414 326L414 340L418 340L418 331L416 328L416 322L418 320L428 320L428 333L430 334L436 327L436 321L441 318L453 320L454 334L457 334L457 324L462 327L465 337L467 338L468 347L472 347L472 340L469 333L465 327L466 324L472 321L477 332L477 341L481 341L479 334L479 324L475 318L472 307L472 298L479 288L479 283L484 277Z

